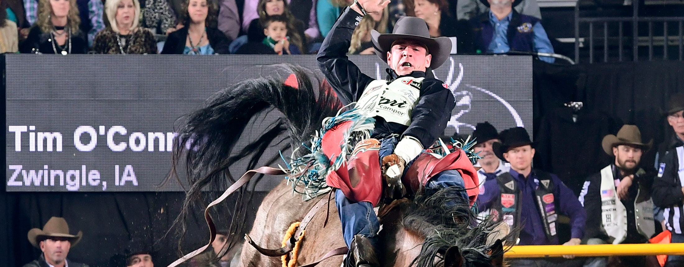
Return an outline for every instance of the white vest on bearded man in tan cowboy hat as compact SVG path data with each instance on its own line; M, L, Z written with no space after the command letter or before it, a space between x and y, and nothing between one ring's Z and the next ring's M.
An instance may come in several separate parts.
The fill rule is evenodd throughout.
M639 169L637 174L640 173L644 170ZM627 210L618 199L614 180L612 165L601 169L601 230L614 238L613 244L620 244L627 238ZM653 199L641 188L634 200L634 218L639 234L646 238L655 234Z

